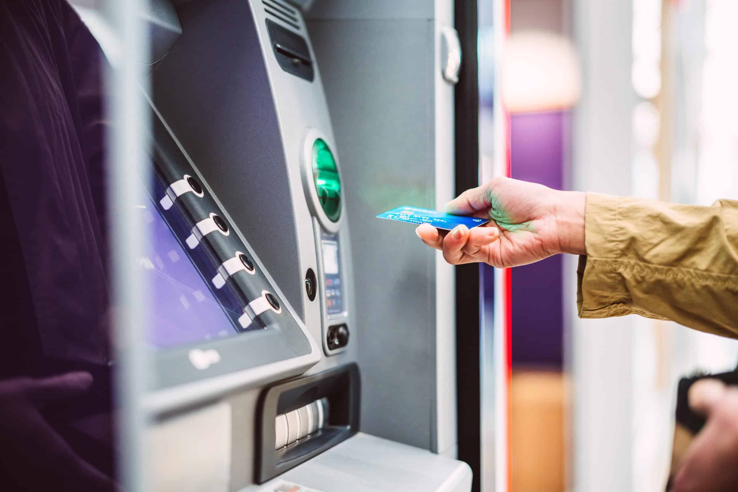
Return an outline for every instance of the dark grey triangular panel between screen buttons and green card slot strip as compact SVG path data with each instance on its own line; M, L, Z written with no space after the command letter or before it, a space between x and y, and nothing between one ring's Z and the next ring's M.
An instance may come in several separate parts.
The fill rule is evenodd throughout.
M177 10L182 36L154 71L154 105L304 320L292 191L249 4Z

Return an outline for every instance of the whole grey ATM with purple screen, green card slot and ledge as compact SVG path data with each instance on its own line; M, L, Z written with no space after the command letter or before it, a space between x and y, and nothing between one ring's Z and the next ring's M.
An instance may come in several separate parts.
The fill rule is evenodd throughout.
M374 163L352 155L351 139L381 118L347 120L329 103L355 82L331 58L339 61L341 46L360 51L361 36L398 32L386 18L384 27L364 24L353 43L344 25L333 42L325 28L337 2L315 3L151 0L142 15L152 48L152 179L141 209L153 238L141 262L154 306L146 339L154 382L144 398L151 490L471 488L469 465L454 459L452 269L407 229L387 238L367 229L384 202L435 207L452 196L449 161L438 164L452 162L452 139L428 137L452 115L452 89L434 86L447 75L435 59L441 38L455 49L452 22L448 13L433 20L443 2L404 9L430 43L420 63L431 80L408 97L424 100L429 120L409 130L408 145L430 150L407 156L407 176L424 174L417 189L384 190L377 203L360 182ZM387 15L393 2L380 3ZM365 5L345 1L334 12L373 18ZM366 63L382 60L372 56ZM408 68L399 77L426 76ZM372 158L391 151L372 145ZM393 249L402 252L395 260Z

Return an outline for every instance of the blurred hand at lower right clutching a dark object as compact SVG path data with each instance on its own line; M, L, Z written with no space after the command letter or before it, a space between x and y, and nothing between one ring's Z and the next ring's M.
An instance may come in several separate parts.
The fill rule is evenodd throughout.
M738 490L738 388L702 379L688 397L707 423L687 448L670 492Z

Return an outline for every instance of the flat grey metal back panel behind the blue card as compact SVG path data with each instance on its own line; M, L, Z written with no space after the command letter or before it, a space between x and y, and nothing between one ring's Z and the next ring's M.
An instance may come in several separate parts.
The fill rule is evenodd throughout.
M362 431L432 448L435 253L411 226L374 215L435 207L434 23L311 21L308 30L352 229Z

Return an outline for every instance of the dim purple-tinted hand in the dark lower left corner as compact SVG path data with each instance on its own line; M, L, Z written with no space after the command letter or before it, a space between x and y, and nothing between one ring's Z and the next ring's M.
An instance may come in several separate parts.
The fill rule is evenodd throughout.
M113 480L75 453L41 409L82 395L89 373L0 381L0 477L8 490L111 492ZM3 489L5 490L5 489Z

